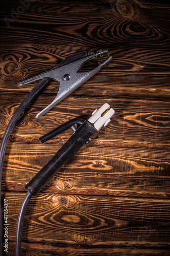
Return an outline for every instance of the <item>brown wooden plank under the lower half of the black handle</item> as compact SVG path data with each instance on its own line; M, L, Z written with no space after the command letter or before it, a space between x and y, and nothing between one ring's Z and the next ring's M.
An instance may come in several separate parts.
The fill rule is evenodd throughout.
M9 143L2 185L26 190L25 185L61 145ZM47 183L46 193L167 198L169 152L143 148L85 145Z

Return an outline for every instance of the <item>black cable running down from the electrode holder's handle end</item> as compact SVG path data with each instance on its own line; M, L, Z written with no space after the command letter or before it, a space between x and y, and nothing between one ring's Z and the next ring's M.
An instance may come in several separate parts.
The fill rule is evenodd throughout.
M21 256L21 245L22 245L22 228L23 221L26 214L28 203L30 202L32 195L28 191L20 207L17 227L16 227L16 239L15 239L15 256Z

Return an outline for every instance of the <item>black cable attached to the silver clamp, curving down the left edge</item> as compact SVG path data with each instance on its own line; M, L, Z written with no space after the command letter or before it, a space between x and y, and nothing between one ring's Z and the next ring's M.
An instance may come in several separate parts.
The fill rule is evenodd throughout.
M34 88L33 90L27 95L27 97L21 102L18 106L17 110L11 117L7 129L4 133L1 146L0 146L0 255L2 254L2 205L1 205L1 183L2 183L2 172L3 172L3 163L4 163L4 156L7 147L7 143L13 127L20 117L23 110L25 110L26 106L30 103L30 101L42 90L42 88L50 81L51 78L45 77L43 78Z

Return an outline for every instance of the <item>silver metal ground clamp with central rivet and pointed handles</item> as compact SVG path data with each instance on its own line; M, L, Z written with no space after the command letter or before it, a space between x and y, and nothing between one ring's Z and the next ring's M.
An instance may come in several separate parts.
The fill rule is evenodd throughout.
M78 73L79 69L84 65L84 63L92 59L98 59L98 57L103 57L103 55L106 55L108 58L104 62L99 63L99 66L97 68L88 72ZM23 84L27 84L39 79L44 79L45 77L49 78L47 82L50 79L54 79L60 82L60 87L56 98L50 105L46 106L45 109L43 109L40 113L36 115L36 118L39 118L48 110L52 109L53 106L58 104L70 93L74 92L89 78L98 73L101 68L104 67L111 59L112 57L109 55L108 50L100 50L96 53L81 52L66 58L57 66L56 69L19 82L18 86L22 86Z

